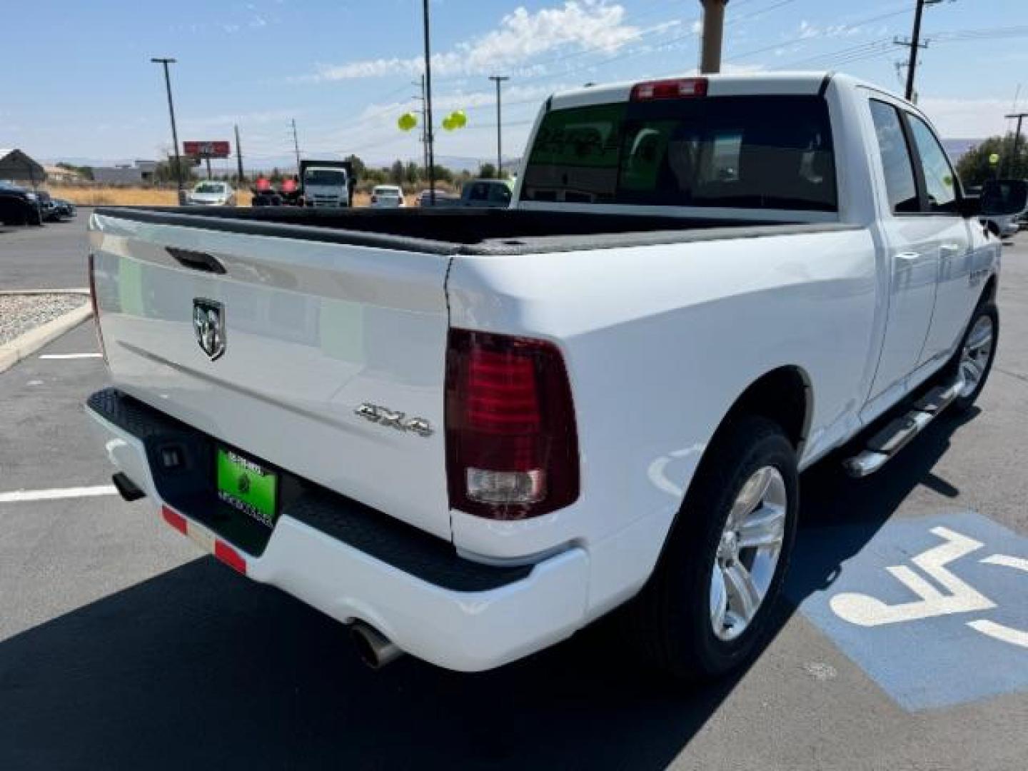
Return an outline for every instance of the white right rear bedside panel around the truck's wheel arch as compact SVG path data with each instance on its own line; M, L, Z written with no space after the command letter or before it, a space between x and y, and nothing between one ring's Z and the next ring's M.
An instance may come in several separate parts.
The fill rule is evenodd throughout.
M452 512L466 552L517 557L579 543L590 614L649 576L734 401L800 367L812 386L804 456L854 428L874 372L875 247L867 229L518 256L462 256L454 327L550 339L575 400L582 492L522 522Z

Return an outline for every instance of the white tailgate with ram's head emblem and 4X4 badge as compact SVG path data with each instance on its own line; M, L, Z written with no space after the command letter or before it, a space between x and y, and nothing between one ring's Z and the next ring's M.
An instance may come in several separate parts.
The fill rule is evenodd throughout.
M96 214L89 229L116 388L244 453L450 538L448 256L305 241L295 230L224 232L205 229L201 218L186 226ZM197 306L221 316L223 353L211 339L201 345ZM427 430L369 420L361 405L421 418Z

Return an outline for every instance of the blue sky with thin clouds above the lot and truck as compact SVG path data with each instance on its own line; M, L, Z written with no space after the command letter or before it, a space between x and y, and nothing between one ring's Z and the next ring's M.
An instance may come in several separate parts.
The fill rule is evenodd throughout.
M731 71L835 69L898 89L891 45L910 33L914 0L731 0ZM152 158L171 145L152 56L177 57L179 138L231 139L248 164L292 151L417 158L414 108L420 0L51 0L26 11L0 47L0 147L42 158ZM25 7L25 6L20 6ZM688 72L698 58L698 0L433 0L437 121L465 108L464 130L438 131L437 154L495 153L490 73L505 85L505 149L520 154L540 102L587 81ZM10 16L8 14L8 21ZM1002 131L1023 81L1028 106L1028 2L930 6L920 102L944 136Z

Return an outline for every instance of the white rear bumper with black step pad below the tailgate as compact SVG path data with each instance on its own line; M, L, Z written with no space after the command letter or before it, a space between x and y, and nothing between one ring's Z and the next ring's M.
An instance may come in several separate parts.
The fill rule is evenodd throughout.
M161 437L190 429L112 390L95 395L86 411L111 463L203 548L338 621L370 624L413 656L448 669L490 669L585 623L583 549L531 566L481 565L440 539L324 490L285 506L261 553L248 553L204 521L197 502L205 499L195 489L177 499L155 467Z

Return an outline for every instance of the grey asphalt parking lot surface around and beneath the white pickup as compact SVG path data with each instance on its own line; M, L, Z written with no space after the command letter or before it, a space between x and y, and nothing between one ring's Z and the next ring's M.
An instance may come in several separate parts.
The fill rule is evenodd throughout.
M0 233L0 288L82 286L85 221ZM979 409L869 479L805 474L774 639L694 690L640 672L607 625L493 672L373 672L340 625L145 502L40 500L109 481L81 408L102 361L46 358L97 354L82 325L0 374L0 769L1024 769L1028 233L1000 287ZM988 603L939 611L913 565Z

